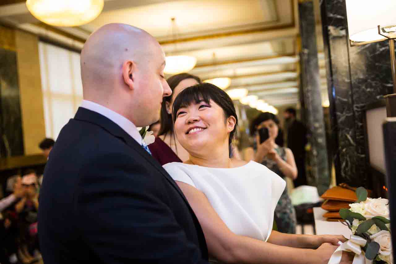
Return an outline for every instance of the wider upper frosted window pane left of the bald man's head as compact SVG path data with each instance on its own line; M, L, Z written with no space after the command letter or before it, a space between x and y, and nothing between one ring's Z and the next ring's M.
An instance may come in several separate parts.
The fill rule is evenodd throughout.
M49 90L54 94L73 94L70 51L46 44Z

